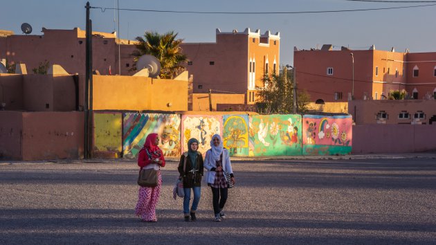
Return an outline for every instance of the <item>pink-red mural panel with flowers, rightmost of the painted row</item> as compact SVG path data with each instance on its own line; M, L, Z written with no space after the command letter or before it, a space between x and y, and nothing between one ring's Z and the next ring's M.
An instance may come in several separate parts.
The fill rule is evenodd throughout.
M302 128L303 155L351 154L351 115L305 115Z

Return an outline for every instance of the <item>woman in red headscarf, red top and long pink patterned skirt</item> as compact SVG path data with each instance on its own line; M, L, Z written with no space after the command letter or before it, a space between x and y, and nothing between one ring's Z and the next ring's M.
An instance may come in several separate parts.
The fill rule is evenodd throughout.
M156 187L140 187L138 203L136 204L136 215L142 221L157 222L156 206L161 194L162 176L161 167L165 167L163 152L158 147L159 138L157 134L149 134L145 139L143 149L140 149L138 166L140 170L154 168L158 174L158 185Z

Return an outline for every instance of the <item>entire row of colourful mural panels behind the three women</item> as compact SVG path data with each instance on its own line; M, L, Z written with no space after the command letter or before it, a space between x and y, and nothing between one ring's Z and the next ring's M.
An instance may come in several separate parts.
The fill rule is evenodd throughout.
M148 134L160 136L165 156L179 157L188 140L199 140L206 154L214 134L231 156L336 155L352 152L352 116L179 115L96 112L97 157L136 158Z

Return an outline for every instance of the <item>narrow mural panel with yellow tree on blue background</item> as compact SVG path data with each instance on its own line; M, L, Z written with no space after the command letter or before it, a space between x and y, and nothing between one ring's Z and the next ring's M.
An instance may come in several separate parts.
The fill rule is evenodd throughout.
M230 156L248 156L248 116L223 116L223 141Z

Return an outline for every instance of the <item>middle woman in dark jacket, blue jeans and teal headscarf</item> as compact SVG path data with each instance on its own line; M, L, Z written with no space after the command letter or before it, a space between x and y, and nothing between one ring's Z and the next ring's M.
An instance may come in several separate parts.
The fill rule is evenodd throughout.
M191 138L188 140L188 152L185 152L180 157L179 174L183 178L183 190L185 197L183 197L183 215L185 221L196 221L195 212L199 205L201 197L201 176L203 176L203 156L199 149L199 140ZM194 191L194 200L192 201L191 210L189 209L189 202L191 199L191 188Z

